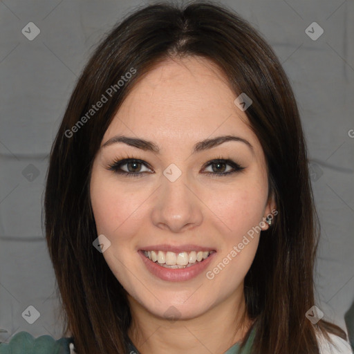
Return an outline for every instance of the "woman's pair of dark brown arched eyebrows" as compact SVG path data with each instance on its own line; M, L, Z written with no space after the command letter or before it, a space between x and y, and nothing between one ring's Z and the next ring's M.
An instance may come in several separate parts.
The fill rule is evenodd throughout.
M201 142L197 142L193 146L192 154L205 151L207 149L212 149L213 147L217 147L218 145L221 145L224 142L228 141L243 142L250 148L252 153L254 153L253 146L250 144L250 142L248 142L248 140L245 140L244 138L240 138L239 136L218 136L213 139L205 139ZM131 138L129 136L113 136L113 138L107 140L104 145L102 145L102 147L108 147L109 145L113 145L117 142L124 142L124 144L127 144L131 147L137 147L138 149L142 149L145 151L153 151L155 153L160 153L160 148L154 142L141 138Z

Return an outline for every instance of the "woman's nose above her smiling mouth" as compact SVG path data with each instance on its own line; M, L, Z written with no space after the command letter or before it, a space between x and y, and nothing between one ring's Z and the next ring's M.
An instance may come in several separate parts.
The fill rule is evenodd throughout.
M203 221L203 203L195 188L182 174L171 182L162 176L162 185L151 212L153 225L171 232L190 230Z

